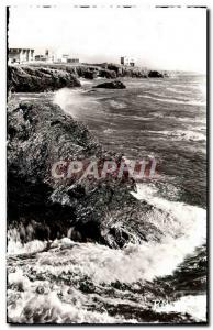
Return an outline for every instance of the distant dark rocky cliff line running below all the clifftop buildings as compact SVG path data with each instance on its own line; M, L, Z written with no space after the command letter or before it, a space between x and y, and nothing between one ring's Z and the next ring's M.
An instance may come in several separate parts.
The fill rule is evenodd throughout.
M164 78L167 73L117 65L31 64L8 66L8 90L11 92L53 91L63 87L80 87L79 78L116 79Z

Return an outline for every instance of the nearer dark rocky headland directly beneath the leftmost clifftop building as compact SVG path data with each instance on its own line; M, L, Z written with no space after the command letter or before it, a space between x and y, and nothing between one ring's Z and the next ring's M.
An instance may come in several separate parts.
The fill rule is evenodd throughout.
M8 67L8 90L12 92L40 92L79 86L80 81L67 70L34 66Z

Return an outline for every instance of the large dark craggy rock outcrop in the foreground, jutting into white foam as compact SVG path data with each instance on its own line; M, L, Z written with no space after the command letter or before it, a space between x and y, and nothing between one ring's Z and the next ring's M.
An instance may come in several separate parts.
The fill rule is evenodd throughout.
M96 241L113 248L160 240L152 207L131 191L131 178L55 179L60 160L114 160L88 129L45 100L8 105L8 228L23 242L40 239ZM152 218L152 217L150 217Z

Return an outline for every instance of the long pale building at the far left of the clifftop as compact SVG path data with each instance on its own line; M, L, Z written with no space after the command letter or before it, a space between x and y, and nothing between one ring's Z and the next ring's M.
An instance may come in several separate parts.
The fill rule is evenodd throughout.
M34 50L31 48L9 48L8 62L13 63L24 63L34 61Z

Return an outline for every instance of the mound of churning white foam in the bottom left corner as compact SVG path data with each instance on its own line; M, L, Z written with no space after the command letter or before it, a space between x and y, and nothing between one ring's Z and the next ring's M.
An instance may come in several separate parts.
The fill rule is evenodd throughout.
M63 302L55 292L47 295L26 292L15 304L15 309L9 306L8 314L10 321L18 323L122 323L122 318L110 317L107 312L88 311Z

